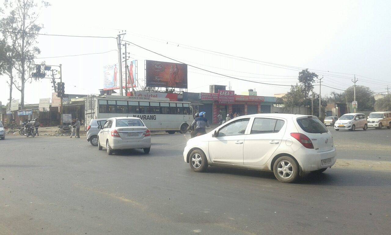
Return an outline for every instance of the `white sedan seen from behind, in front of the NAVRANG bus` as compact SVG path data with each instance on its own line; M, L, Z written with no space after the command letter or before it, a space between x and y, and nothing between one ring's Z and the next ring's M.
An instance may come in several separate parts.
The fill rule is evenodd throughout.
M106 148L109 155L115 150L142 148L151 150L151 131L138 117L111 117L98 127L98 148Z

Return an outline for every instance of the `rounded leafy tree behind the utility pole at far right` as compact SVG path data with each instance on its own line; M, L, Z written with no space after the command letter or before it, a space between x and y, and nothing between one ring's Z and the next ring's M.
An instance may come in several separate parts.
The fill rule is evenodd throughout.
M354 87L349 87L343 94L348 99L348 102L354 101ZM373 97L373 92L369 87L356 86L356 101L357 110L373 111L375 98Z

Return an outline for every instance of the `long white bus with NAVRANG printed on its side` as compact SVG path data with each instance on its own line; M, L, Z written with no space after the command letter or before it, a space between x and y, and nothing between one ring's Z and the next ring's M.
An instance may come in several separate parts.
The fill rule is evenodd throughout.
M139 117L149 130L186 133L194 120L190 102L168 98L134 96L90 96L85 98L85 123L91 119Z

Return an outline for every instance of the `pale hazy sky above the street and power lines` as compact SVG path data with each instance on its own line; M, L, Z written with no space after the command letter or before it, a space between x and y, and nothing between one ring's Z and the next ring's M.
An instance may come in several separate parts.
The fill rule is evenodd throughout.
M357 76L357 85L366 85L375 92L383 92L391 85L391 1L48 2L52 6L44 9L39 18L45 27L41 33L116 37L118 30L126 30L125 40L190 65L274 84L295 84L298 69L292 67L303 67L325 75L325 84L339 89L352 85L353 76L348 74L368 77ZM117 49L114 39L103 38L39 36L38 42L42 51L39 58ZM188 46L193 47L188 49ZM227 58L202 49L258 62ZM144 77L145 59L170 61L134 46L128 47L128 51L138 60L139 78ZM118 62L118 56L117 51L111 51L36 62L43 60L47 64L63 65L66 93L97 94L103 88L103 66ZM3 104L9 96L6 79L3 76L0 80ZM208 92L208 85L228 86L229 81L237 94L256 89L260 96L273 96L289 90L289 87L223 78L188 67L190 92ZM28 84L25 102L38 103L39 98L49 98L51 89L49 80ZM322 87L322 94L332 90ZM13 98L20 98L16 89Z

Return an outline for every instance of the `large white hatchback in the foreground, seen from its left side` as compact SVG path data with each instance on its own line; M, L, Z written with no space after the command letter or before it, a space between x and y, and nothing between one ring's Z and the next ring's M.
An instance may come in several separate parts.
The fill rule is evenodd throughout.
M234 118L187 141L185 162L195 172L208 165L273 171L292 183L305 172L334 165L333 137L316 116L253 114Z

